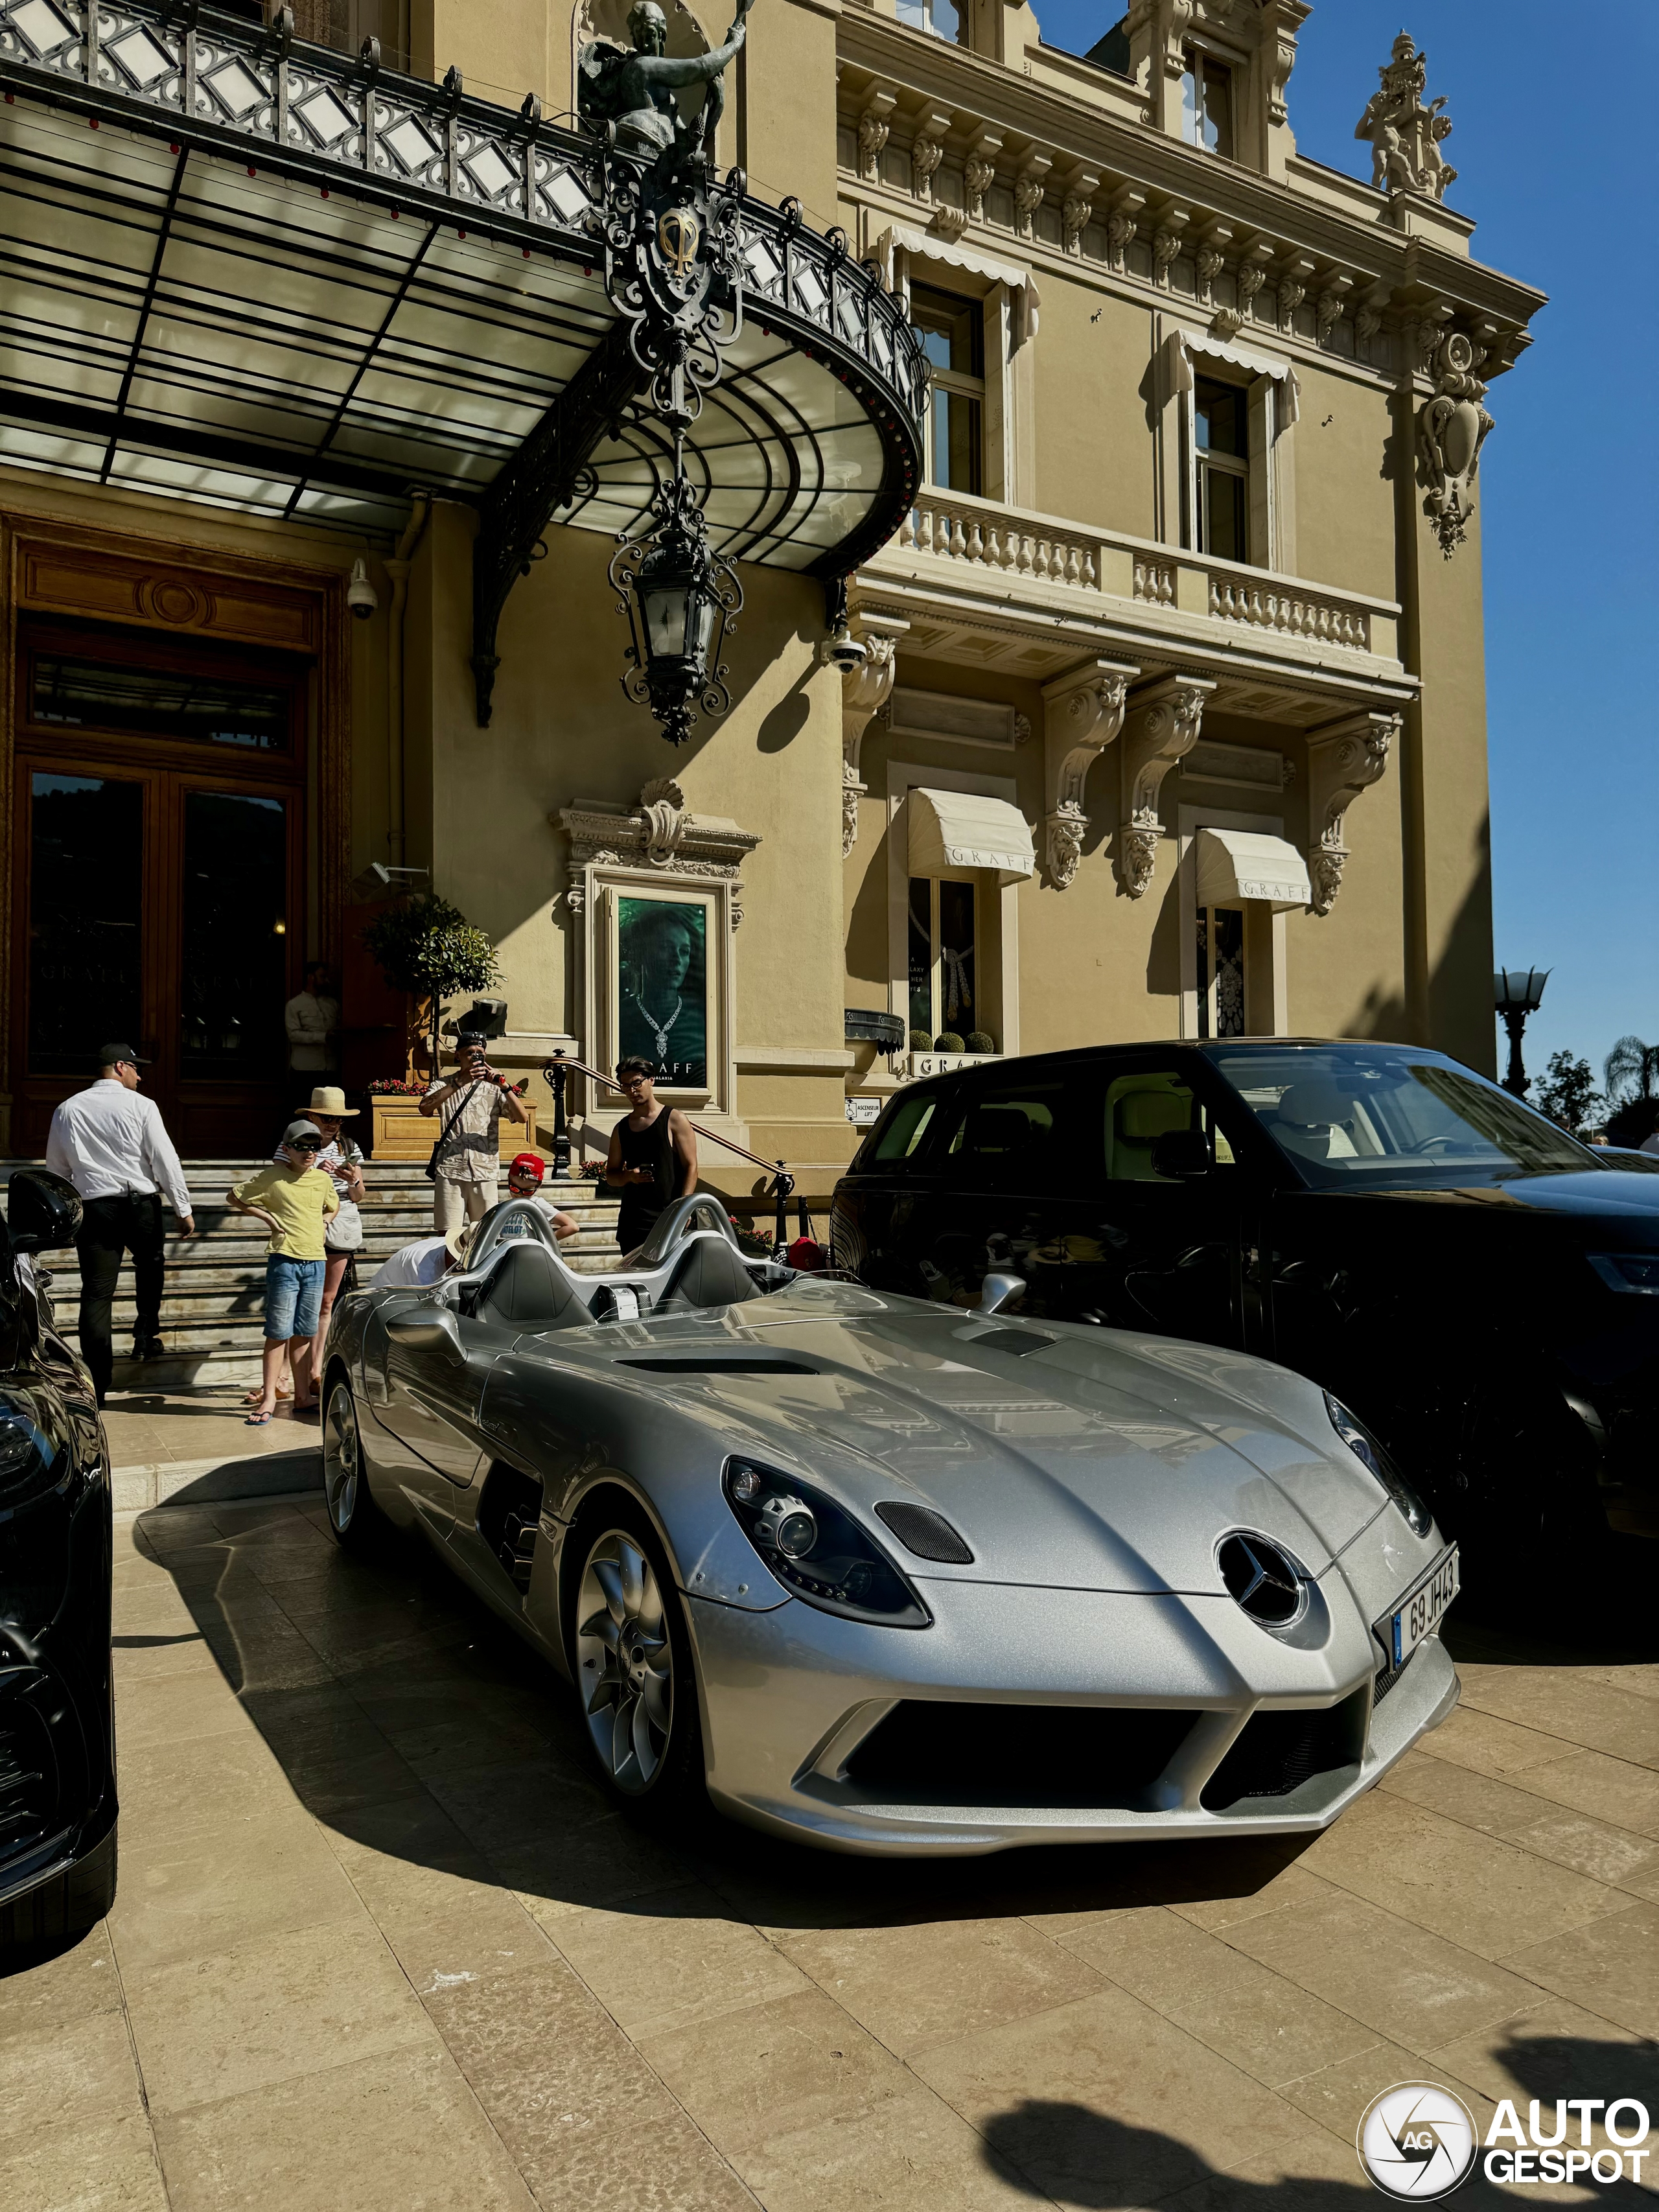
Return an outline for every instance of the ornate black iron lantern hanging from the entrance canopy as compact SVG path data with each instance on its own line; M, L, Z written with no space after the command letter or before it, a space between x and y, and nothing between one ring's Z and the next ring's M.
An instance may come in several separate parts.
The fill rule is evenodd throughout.
M644 538L622 533L611 557L617 613L633 630L622 690L635 706L650 708L670 745L684 745L697 708L726 714L732 706L721 653L743 606L743 586L732 562L708 549L708 520L679 442L675 473L653 498L650 513L655 529Z

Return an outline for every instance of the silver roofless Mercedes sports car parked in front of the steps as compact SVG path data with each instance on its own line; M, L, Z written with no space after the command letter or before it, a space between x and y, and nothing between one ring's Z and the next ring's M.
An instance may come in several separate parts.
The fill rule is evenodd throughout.
M845 1851L1325 1827L1458 1699L1458 1557L1265 1360L495 1208L343 1301L336 1535L420 1528L577 1686L622 1796Z

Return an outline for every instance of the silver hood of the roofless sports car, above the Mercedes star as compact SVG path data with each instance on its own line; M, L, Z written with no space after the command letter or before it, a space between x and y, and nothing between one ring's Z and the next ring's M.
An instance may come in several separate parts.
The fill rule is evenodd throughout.
M792 1301L768 1298L617 1356L726 1449L827 1482L865 1517L894 1498L936 1506L973 1564L911 1573L1212 1593L1228 1528L1321 1573L1385 1506L1318 1389L1265 1360L854 1296L869 1312L785 1318ZM759 1371L730 1365L745 1354ZM695 1369L668 1365L686 1356Z

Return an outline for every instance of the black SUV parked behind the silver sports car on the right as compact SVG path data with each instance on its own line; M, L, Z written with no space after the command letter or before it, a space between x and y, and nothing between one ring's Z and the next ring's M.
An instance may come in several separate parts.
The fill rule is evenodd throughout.
M1464 1540L1659 1535L1659 1181L1444 1053L1241 1037L911 1084L832 1243L880 1290L1281 1360Z

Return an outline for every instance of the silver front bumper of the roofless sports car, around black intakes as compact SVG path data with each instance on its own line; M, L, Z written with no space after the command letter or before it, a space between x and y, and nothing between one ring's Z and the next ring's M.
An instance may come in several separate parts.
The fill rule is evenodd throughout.
M1356 1595L1340 1568L1321 1584L1329 1635L1312 1650L1265 1635L1228 1597L929 1584L927 1630L867 1628L794 1599L745 1613L692 1597L710 1796L757 1827L885 1856L1323 1829L1451 1712L1458 1677L1429 1637L1374 1701L1383 1652L1367 1628L1371 1593ZM1040 1781L1011 1787L1009 1772L971 1756L949 1776L933 1770L914 1796L891 1772L878 1787L860 1781L860 1743L900 1703L909 1717L920 1703L925 1734L929 1701L1048 1708L1042 1721L1053 1708L1077 1708L1088 1723L1164 1714L1179 1741L1139 1781L1102 1765L1099 1803L1079 1803L1095 1776L1073 1770L1053 1805ZM1290 1787L1217 1805L1223 1761L1259 1717L1270 1730L1329 1721L1340 1752L1307 1774L1292 1767Z

